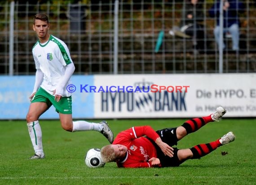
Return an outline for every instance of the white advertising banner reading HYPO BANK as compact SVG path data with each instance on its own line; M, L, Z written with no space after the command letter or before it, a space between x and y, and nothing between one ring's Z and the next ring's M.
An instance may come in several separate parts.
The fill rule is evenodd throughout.
M94 118L256 117L255 74L94 75ZM81 86L82 87L82 86Z

